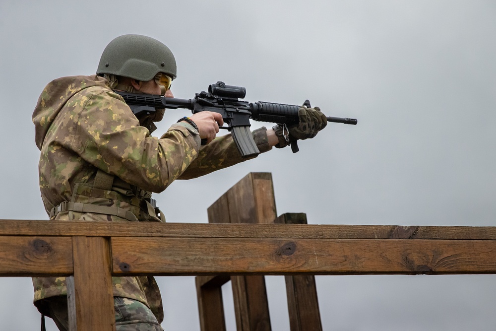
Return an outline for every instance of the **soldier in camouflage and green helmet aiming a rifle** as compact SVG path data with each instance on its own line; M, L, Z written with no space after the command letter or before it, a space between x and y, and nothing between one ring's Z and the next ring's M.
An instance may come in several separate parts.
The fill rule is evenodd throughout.
M141 35L117 37L105 48L96 73L50 82L33 113L41 150L40 190L50 219L163 222L151 192L246 160L230 134L216 137L223 125L219 114L180 119L158 138L150 133L164 110L136 117L114 92L173 97L176 60L161 42ZM300 120L289 129L291 139L311 138L327 124L318 108L302 107ZM288 144L278 126L252 135L260 152ZM65 278L37 277L33 285L38 310L67 330ZM113 277L113 290L118 331L163 330L153 277Z

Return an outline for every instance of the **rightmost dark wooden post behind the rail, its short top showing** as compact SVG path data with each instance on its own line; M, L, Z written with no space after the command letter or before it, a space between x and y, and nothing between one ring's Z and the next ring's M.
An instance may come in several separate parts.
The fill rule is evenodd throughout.
M274 223L307 224L305 213L286 213ZM322 331L313 275L285 276L291 331Z

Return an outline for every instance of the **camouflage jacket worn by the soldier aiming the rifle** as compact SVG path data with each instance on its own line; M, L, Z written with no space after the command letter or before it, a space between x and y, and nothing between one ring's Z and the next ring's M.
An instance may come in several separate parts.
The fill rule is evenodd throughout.
M43 90L33 113L40 190L47 212L63 201L116 205L140 212L135 197L92 189L98 170L144 191L159 193L176 179L199 177L242 162L230 134L200 146L188 124L175 124L160 138L150 135L122 97L98 76L62 77ZM261 152L271 149L265 128L253 131ZM58 220L125 221L94 213L59 213ZM160 293L153 277L114 277L114 295L139 300L157 311ZM65 279L33 278L35 304L65 295ZM161 310L161 308L160 308ZM157 313L156 313L157 314ZM160 313L158 313L160 315ZM160 320L161 316L157 316Z

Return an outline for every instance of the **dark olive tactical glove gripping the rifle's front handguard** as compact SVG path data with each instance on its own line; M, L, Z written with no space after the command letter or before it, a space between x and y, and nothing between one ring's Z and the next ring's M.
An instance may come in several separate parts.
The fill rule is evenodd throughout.
M272 128L279 138L279 144L275 147L282 148L289 145L291 141L313 138L327 125L327 119L318 107L302 106L298 111L298 118L300 119L298 124L287 128L276 125Z

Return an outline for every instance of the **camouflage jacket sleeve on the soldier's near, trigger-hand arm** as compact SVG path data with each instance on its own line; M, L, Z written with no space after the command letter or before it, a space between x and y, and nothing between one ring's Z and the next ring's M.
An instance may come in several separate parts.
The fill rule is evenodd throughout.
M150 136L115 93L79 100L73 150L86 162L146 191L162 192L198 156L199 137L173 125L160 139Z

